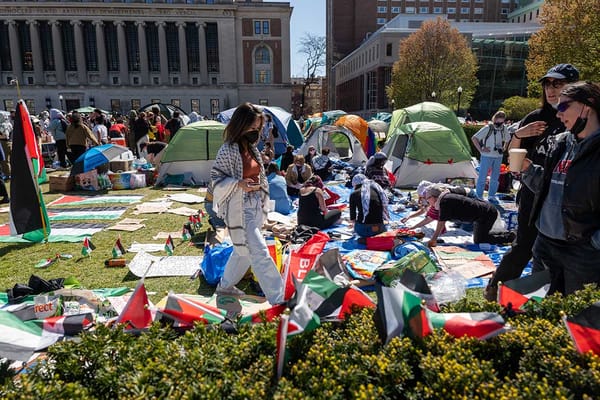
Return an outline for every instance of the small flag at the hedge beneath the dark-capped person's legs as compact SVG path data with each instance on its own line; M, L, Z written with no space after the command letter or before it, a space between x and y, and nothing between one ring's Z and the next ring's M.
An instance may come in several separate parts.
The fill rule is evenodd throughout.
M502 282L498 285L498 303L518 311L529 300L541 301L550 289L550 271L535 272L529 276Z

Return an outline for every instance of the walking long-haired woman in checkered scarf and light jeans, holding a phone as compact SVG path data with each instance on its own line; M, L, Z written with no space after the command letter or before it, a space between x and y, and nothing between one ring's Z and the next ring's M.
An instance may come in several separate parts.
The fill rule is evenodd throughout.
M261 233L269 200L269 183L256 148L263 121L260 108L251 103L239 105L225 127L225 143L211 170L213 208L225 221L233 243L216 293L244 295L235 285L252 265L267 301L279 304L283 280Z

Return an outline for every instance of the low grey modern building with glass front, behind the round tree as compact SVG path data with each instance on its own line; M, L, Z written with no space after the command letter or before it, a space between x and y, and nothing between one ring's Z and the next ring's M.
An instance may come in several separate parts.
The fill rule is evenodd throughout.
M398 16L334 65L330 73L335 80L334 107L365 117L391 110L385 88L391 82L401 40L431 18L437 16ZM478 60L479 86L470 108L474 117L489 118L504 99L526 96L527 41L539 25L455 21L451 25L465 36Z

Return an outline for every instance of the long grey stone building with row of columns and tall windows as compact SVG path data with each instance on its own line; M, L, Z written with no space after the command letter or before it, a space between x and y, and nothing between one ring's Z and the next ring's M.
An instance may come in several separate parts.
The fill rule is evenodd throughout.
M31 113L172 103L209 117L243 101L289 109L288 2L0 1L0 99Z

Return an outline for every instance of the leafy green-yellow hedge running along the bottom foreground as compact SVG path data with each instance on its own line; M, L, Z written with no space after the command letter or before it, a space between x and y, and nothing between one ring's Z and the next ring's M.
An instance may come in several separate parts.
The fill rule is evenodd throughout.
M512 330L478 341L443 331L382 346L373 311L291 338L284 377L275 374L276 323L236 334L197 325L177 334L153 326L139 336L99 327L52 346L48 358L12 379L5 399L592 399L600 357L576 352L560 312L600 300L586 288L551 296L511 317ZM464 299L445 312L499 311Z

